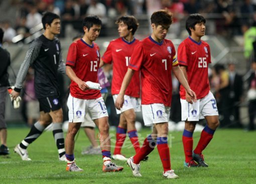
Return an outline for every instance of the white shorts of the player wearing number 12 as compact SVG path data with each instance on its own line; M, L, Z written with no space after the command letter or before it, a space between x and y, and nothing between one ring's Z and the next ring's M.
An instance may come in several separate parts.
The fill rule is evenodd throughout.
M108 117L105 102L102 97L84 100L72 97L70 94L67 101L69 122L84 122L88 114L92 120Z

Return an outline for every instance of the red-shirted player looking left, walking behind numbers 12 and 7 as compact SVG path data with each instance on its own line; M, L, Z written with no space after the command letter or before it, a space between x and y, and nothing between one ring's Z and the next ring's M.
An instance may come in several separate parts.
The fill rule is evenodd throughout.
M123 77L127 71L131 55L139 40L134 38L134 34L139 26L138 21L133 16L120 17L118 24L118 34L120 38L109 43L106 52L102 57L102 61L107 64L113 63L113 78L111 93L114 102L119 94ZM134 146L136 152L140 150L138 134L135 127L136 113L141 111L140 105L140 73L135 72L134 77L127 87L124 94L124 105L120 110L116 109L116 113L120 114L119 125L116 130L116 142L112 158L115 160L127 160L121 154L121 147L126 137L126 131Z

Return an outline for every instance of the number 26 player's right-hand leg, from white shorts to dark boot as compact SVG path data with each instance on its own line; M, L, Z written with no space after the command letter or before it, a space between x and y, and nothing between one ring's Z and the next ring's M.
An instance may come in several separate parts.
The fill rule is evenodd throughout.
M209 144L213 138L213 134L219 126L218 109L213 94L210 92L200 103L202 106L201 114L205 117L207 124L201 132L200 139L197 143L196 148L193 151L193 159L200 165L207 167L208 165L204 162L202 151ZM201 108L200 108L201 109Z

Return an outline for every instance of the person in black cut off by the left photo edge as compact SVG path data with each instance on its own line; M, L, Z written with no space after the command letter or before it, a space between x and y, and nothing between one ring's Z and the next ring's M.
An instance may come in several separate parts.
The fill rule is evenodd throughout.
M8 78L8 66L11 64L10 54L7 50L2 48L2 42L4 37L4 31L0 28L0 58L1 58L1 67L0 67L0 155L9 154L9 149L7 147L7 125L5 121L5 107L6 107L6 97L7 97L7 88L10 85Z

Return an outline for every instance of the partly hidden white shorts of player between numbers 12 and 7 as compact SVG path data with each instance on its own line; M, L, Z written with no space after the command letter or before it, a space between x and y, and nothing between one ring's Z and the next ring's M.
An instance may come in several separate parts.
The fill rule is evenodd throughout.
M114 103L118 95L113 95ZM120 114L129 109L134 109L135 112L141 111L141 99L132 96L124 95L124 103L120 110L116 110L116 114Z

